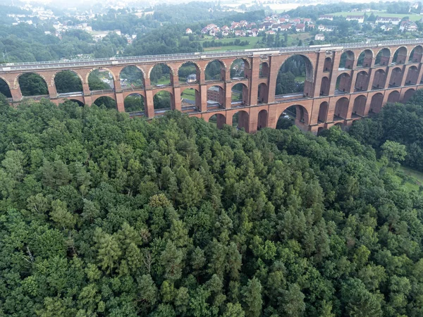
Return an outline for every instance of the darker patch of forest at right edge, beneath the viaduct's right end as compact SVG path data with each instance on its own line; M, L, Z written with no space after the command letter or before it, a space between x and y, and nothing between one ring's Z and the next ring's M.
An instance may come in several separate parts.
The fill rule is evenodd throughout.
M407 104L387 104L372 118L356 121L350 134L381 152L386 141L404 144L404 164L423 172L423 91L418 90Z

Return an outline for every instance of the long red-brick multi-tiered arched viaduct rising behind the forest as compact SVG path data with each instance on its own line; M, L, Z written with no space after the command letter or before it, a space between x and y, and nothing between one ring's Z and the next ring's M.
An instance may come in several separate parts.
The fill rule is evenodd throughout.
M306 66L304 92L276 96L278 71L290 56L302 56ZM342 58L341 58L342 56ZM360 56L360 58L359 58ZM423 87L423 39L300 46L279 49L252 49L216 53L192 53L128 58L92 59L78 61L51 61L39 63L12 63L0 65L0 79L11 91L11 103L23 99L19 76L24 73L40 75L49 89L44 96L59 104L65 99L92 104L99 97L111 97L118 111L125 111L124 99L140 94L145 101L145 112L140 116L153 118L163 111L154 109L154 95L161 91L171 94L171 108L189 116L208 121L216 115L217 125L232 125L238 113L238 126L247 132L258 128L276 128L279 116L287 108L295 110L295 123L302 130L318 132L332 125L350 125L357 120L377 113L386 102L407 101ZM237 59L244 62L243 75L231 78L231 66ZM342 60L342 68L341 66ZM205 69L212 61L219 61L221 75L217 80L206 80ZM194 63L197 71L195 83L180 83L178 70L184 63ZM164 63L170 68L171 85L152 85L150 73L154 66ZM121 87L121 70L135 66L142 71L143 87ZM90 91L88 76L94 69L109 70L114 89ZM72 70L82 82L83 91L72 96L58 94L54 82L57 73ZM232 87L243 85L242 101L231 100ZM207 90L219 87L221 103L207 102ZM181 104L181 92L195 89L195 106ZM34 99L40 97L32 97Z

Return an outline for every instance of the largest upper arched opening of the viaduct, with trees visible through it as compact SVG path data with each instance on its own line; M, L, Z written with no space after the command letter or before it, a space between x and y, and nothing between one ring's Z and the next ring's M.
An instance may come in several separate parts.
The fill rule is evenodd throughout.
M309 59L294 55L283 62L276 79L276 96L283 94L302 94L312 96L313 66Z

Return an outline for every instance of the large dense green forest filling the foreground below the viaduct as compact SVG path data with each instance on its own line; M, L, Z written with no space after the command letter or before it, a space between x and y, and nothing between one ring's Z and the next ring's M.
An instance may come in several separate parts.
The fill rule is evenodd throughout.
M423 315L423 197L337 127L0 111L0 315Z

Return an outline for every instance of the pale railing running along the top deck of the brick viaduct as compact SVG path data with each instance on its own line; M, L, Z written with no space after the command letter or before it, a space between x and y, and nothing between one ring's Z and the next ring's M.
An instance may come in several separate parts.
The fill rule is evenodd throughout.
M266 54L266 51L278 51L279 53L295 53L317 51L319 49L331 49L333 47L341 47L345 49L362 48L370 46L386 46L398 44L423 44L423 39L397 39L374 42L357 42L357 43L343 43L343 44L325 44L321 46L290 46L290 47L276 47L264 49L242 49L233 51L216 51L216 52L195 52L195 53L179 53L179 54L163 54L163 55L145 55L145 56L125 56L112 58L86 58L76 60L64 61L41 61L41 62L26 62L26 63L2 63L0 64L0 71L12 70L37 70L49 68L72 68L83 66L113 66L130 63L146 63L146 62L161 62L161 61L195 61L202 58L222 58L222 57L237 57L237 56L254 56L257 53Z

